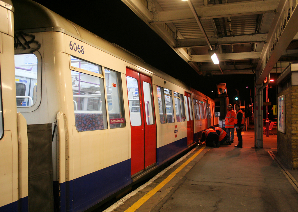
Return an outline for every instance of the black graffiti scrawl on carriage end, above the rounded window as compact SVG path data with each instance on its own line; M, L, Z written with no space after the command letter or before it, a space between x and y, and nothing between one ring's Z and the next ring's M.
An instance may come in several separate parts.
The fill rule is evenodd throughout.
M15 34L15 49L30 49L30 53L40 49L41 44L35 40L35 35L18 32Z

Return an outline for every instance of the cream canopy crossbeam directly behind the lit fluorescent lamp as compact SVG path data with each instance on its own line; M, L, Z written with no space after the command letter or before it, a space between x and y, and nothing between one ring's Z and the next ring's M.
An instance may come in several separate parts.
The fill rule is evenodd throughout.
M218 60L250 60L259 59L261 52L241 52L216 54ZM209 54L190 55L190 62L212 62Z

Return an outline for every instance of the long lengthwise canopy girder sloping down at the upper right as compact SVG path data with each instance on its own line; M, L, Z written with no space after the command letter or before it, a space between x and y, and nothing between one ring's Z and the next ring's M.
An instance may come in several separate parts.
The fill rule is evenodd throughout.
M272 21L272 24L275 24L275 27L272 27L268 32L267 41L257 65L257 70L260 71L257 75L258 79L256 84L263 83L264 79L268 76L271 69L277 63L289 43L297 34L297 4L298 1L295 3L292 0L280 0L280 4L277 7L277 14L274 16Z

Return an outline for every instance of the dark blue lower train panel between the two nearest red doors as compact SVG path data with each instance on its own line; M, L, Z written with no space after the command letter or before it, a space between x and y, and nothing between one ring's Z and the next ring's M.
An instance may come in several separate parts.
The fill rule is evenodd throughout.
M187 137L173 143L161 146L156 150L157 165L160 165L183 150L187 149Z

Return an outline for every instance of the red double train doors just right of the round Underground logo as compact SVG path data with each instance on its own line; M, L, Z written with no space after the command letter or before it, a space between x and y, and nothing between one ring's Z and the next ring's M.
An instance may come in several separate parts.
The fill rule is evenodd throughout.
M185 95L185 110L187 113L187 146L193 143L193 110L191 106L190 93L184 92Z

